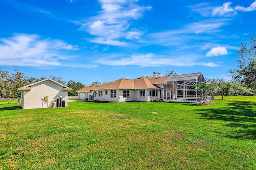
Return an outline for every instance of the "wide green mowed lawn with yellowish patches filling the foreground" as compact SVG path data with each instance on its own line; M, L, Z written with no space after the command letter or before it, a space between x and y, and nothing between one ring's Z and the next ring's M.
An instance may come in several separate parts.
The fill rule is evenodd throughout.
M256 169L256 97L211 103L1 101L0 169Z

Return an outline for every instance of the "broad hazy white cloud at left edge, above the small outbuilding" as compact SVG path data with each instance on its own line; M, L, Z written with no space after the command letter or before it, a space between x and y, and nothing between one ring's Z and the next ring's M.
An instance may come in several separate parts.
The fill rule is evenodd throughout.
M15 34L13 37L0 39L0 65L88 67L86 64L61 62L73 57L67 55L67 51L78 49L77 45L70 45L61 40L40 39L39 35Z

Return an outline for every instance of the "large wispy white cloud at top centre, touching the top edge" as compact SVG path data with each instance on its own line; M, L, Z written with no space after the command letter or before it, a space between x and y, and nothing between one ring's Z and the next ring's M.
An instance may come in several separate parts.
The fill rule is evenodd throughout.
M142 31L132 28L132 20L138 20L143 12L151 6L144 7L136 4L138 0L99 0L102 10L97 16L88 20L75 22L80 24L80 30L96 36L89 40L106 45L124 45L125 39L139 39ZM122 41L120 41L122 39Z

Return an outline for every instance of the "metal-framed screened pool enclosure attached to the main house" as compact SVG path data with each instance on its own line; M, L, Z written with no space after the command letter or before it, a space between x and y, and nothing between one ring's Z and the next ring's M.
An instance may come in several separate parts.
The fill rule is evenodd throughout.
M170 76L164 83L163 98L173 102L202 102L204 97L196 93L196 85L206 83L213 86L206 81L201 72ZM211 93L206 101L213 99L214 94Z

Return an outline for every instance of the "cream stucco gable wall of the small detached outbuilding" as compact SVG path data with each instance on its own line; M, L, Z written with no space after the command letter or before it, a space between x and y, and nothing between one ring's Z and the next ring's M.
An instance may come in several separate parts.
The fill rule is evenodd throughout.
M68 106L68 91L63 90L63 86L46 80L44 82L34 84L30 91L22 91L22 108L46 108L52 107L52 102L57 102L57 97L62 96L65 101L65 107ZM48 96L48 101L44 100L44 96Z

